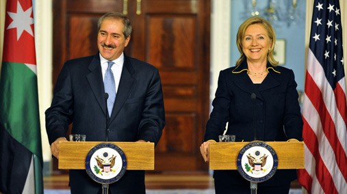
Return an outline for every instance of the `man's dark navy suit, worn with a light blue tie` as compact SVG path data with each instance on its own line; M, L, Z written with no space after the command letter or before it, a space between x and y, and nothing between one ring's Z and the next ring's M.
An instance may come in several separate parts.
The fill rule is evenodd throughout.
M104 94L99 53L66 61L55 85L51 107L46 111L49 143L65 137L71 123L71 133L86 134L86 141L105 141L107 111ZM125 56L110 116L108 140L143 139L157 144L164 125L164 101L158 70ZM97 193L101 184L90 180L86 171L70 171L72 191ZM144 171L127 171L123 178L110 185L110 191L144 193Z

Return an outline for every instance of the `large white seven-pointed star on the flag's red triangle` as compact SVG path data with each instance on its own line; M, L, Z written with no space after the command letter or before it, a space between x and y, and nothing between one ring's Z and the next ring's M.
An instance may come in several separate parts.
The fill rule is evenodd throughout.
M8 25L7 29L16 28L17 29L17 40L21 38L23 31L27 31L31 36L34 37L34 32L32 31L30 25L34 24L34 18L31 18L33 7L27 9L25 12L19 1L17 2L17 12L8 12L8 15L13 19L12 23Z

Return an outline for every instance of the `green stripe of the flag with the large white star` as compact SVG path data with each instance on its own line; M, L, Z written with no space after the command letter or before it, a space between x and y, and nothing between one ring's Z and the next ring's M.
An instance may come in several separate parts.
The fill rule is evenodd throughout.
M5 130L42 163L36 74L25 64L3 62L0 91L0 120Z

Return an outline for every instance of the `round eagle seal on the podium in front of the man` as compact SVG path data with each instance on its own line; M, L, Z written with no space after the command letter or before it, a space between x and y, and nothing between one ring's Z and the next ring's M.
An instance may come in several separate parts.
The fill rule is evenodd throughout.
M127 158L113 143L94 146L86 157L86 171L92 180L101 184L118 181L127 170Z

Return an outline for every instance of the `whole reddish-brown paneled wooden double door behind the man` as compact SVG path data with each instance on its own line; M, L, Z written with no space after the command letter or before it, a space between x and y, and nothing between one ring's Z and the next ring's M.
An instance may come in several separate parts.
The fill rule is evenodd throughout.
M97 20L127 12L133 25L125 53L159 69L166 127L156 171L200 171L198 150L209 115L209 0L54 0L53 83L66 59L97 53Z

